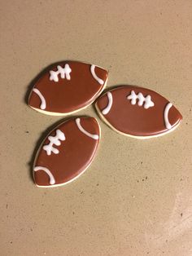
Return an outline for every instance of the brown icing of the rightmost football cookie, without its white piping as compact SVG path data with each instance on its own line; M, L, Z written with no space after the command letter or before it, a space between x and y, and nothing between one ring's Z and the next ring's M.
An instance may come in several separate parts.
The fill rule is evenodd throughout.
M138 99L136 104L131 104L131 100L127 99L127 96L131 94L131 90L134 90L136 95L139 92L144 97L151 95L151 100L155 106L147 109L144 108L144 104L138 106ZM109 113L103 114L103 118L116 130L133 136L160 135L168 131L164 121L164 109L168 104L168 100L163 96L153 90L137 86L119 86L109 91L111 92L113 103ZM107 104L108 98L107 93L105 93L98 99L96 107L102 113ZM177 126L181 119L181 113L172 106L168 112L168 121L172 128Z

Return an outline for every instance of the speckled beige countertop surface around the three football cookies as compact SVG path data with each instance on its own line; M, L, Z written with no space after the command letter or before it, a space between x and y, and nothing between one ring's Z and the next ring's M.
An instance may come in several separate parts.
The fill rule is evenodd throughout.
M192 2L18 0L0 14L1 255L192 255ZM62 117L36 113L25 95L59 60L107 68L108 87L156 90L181 126L141 141L99 120L89 170L66 187L36 188L34 148ZM80 114L97 117L92 106Z

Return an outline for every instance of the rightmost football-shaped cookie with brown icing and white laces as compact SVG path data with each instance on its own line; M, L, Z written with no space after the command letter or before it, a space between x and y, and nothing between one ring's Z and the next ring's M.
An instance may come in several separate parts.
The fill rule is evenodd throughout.
M96 102L108 126L124 135L145 139L174 130L182 116L172 103L153 90L119 86Z

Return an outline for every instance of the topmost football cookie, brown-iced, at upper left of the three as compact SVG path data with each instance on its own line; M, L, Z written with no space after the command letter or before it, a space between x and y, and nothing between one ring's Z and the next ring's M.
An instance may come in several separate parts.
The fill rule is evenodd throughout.
M107 71L65 61L52 65L35 83L28 105L41 113L67 115L92 104L107 83Z

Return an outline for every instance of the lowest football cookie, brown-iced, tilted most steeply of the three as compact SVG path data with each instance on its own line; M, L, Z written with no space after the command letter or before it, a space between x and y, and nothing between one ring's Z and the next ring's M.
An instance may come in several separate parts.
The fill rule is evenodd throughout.
M78 178L94 160L99 139L94 117L78 117L57 126L37 152L33 166L37 186L59 186Z

